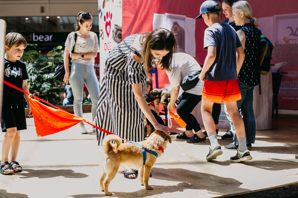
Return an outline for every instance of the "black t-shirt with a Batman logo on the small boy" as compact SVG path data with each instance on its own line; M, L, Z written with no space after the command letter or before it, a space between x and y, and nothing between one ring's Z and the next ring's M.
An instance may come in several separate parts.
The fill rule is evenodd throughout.
M22 89L23 80L28 79L25 63L22 61L10 62L5 59L4 80ZM24 93L3 85L3 105L20 105L24 103Z

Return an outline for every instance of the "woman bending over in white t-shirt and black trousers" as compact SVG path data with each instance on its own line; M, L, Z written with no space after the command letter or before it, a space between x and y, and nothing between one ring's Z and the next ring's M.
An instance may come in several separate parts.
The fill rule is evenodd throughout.
M165 72L169 77L172 87L169 110L174 110L176 108L175 101L178 97L181 80L187 75L191 75L200 71L201 66L194 58L192 58L191 55L185 53L173 54L171 66L171 70L165 70ZM187 125L185 127L185 132L183 132L181 135L178 135L177 138L188 139L186 141L187 143L197 143L206 140L206 137L201 130L200 124L192 115L192 110L201 101L203 86L204 82L199 80L194 88L183 92L178 98L180 103L177 106L177 113ZM195 133L193 133L192 130L194 130Z

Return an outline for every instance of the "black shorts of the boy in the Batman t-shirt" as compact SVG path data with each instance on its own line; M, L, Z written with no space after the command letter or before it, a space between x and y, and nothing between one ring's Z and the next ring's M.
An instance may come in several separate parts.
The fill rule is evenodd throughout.
M27 129L24 104L12 107L3 104L1 127L2 132L6 132L6 129L13 127L16 127L17 131Z

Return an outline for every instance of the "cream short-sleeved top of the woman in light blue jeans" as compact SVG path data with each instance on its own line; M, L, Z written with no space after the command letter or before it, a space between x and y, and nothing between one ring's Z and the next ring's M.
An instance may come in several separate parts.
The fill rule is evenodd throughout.
M78 54L99 52L98 37L96 33L89 32L89 34L89 38L82 38L77 36L77 41L75 42L75 32L70 32L65 41L65 46L67 46L69 53L71 54L74 45L75 53ZM94 65L94 58L78 58L75 60L71 60L71 62L77 62L83 65Z

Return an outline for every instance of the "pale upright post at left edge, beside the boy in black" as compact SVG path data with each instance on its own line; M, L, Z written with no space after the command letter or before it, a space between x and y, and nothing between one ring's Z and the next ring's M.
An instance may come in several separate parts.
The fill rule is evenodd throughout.
M0 118L2 114L2 93L3 93L3 79L4 79L4 46L6 34L6 22L0 19Z

